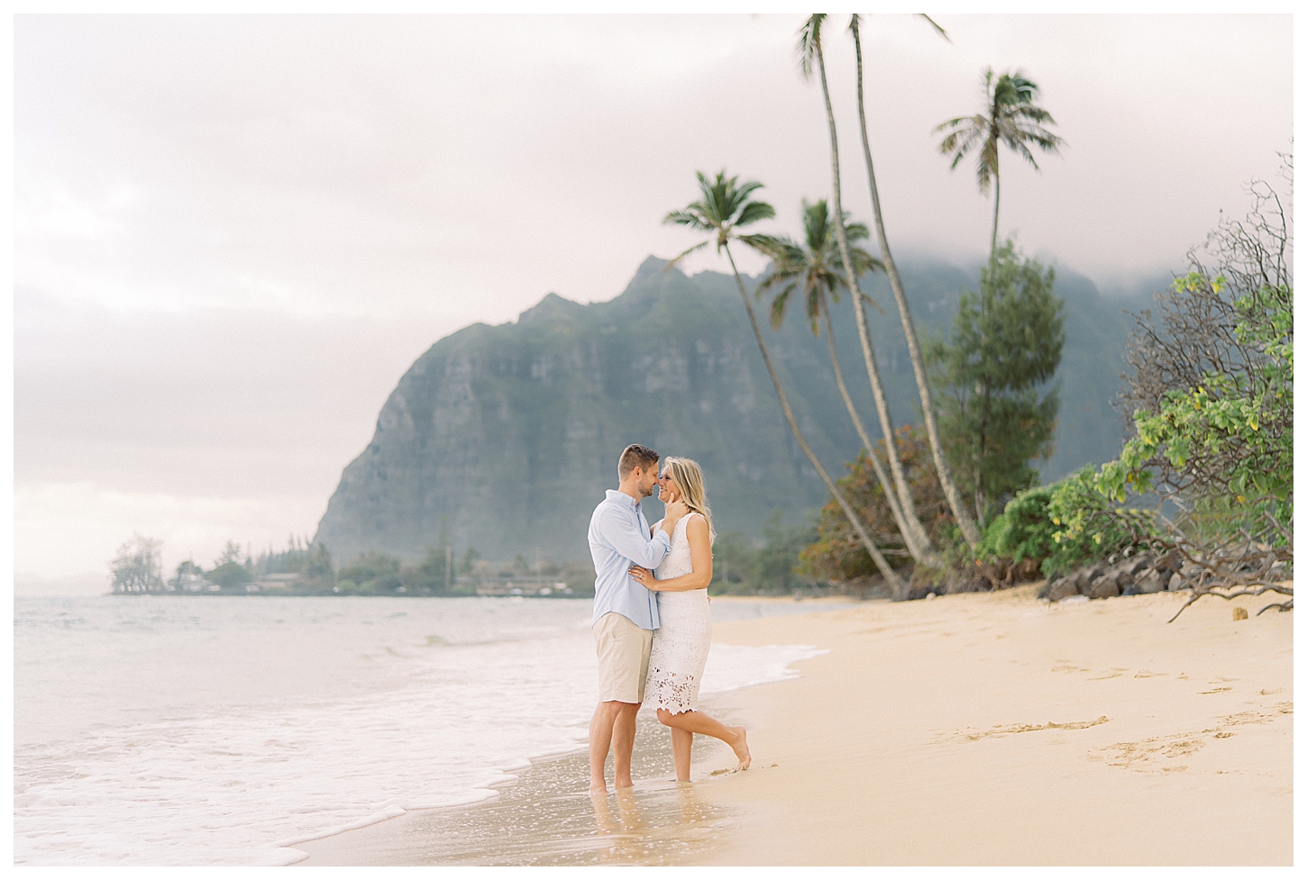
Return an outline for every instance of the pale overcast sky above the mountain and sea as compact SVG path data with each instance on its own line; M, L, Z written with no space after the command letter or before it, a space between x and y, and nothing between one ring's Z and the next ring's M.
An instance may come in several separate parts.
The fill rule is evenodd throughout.
M1021 68L1065 138L1002 157L1001 228L1104 287L1180 269L1291 149L1287 16L876 16L868 115L891 244L970 261L992 202L932 132ZM427 346L548 291L621 292L694 171L826 197L801 16L14 21L14 569L101 578L312 534ZM867 218L852 43L826 51ZM757 259L741 269L757 272ZM711 256L687 269L720 269ZM27 585L27 586L24 586Z

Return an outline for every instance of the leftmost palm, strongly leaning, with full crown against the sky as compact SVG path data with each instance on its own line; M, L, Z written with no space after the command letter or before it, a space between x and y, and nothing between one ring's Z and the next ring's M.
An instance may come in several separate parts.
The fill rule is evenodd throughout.
M826 483L826 488L830 491L831 496L839 503L840 509L844 511L844 516L848 517L850 524L853 526L853 531L857 533L859 539L867 547L867 552L870 554L872 560L876 563L876 568L880 569L886 584L890 585L890 590L893 590L895 597L899 597L904 591L902 578L899 578L894 569L890 568L890 564L885 561L885 556L867 534L867 529L863 526L861 521L859 521L853 508L850 507L848 501L840 494L839 487L835 486L835 480L833 480L830 474L826 473L826 469L822 467L817 456L813 454L812 447L808 445L802 432L799 430L799 422L795 419L793 410L789 409L789 400L786 397L786 390L780 386L780 379L776 376L776 368L771 364L771 355L767 353L767 343L762 338L762 330L758 329L758 319L753 313L753 303L749 302L749 294L744 289L744 281L740 279L740 270L736 269L735 257L731 255L732 239L737 239L762 253L766 253L766 248L774 247L775 239L770 235L741 235L738 230L740 227L757 221L775 217L776 210L765 201L753 201L749 198L755 189L762 188L762 184L755 180L740 184L737 183L738 178L727 178L725 170L719 171L716 179L712 181L710 181L702 171L695 172L695 176L699 180L701 198L690 202L681 210L668 213L668 215L663 218L663 222L687 226L697 232L707 232L710 238L678 253L670 262L667 264L664 272L684 260L686 256L694 253L699 248L707 247L708 244L715 243L718 253L725 251L727 260L731 261L731 273L735 275L736 286L740 289L740 296L744 299L745 312L749 313L749 325L753 328L754 338L758 341L758 350L762 351L762 360L767 366L767 375L771 377L771 384L776 389L776 397L780 400L780 409L786 414L786 420L789 423L789 430L795 435L795 441L799 443L799 448L804 450L805 456L808 456L808 461L812 462L812 466L821 475L822 482Z

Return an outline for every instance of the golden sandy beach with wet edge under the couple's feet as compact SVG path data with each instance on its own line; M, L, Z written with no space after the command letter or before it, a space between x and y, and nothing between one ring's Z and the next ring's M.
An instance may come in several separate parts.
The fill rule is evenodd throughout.
M750 770L697 738L677 786L642 714L633 791L592 803L567 755L301 864L1291 864L1293 614L1206 598L1167 624L1184 595L1035 590L719 624L829 652L704 701L749 726Z

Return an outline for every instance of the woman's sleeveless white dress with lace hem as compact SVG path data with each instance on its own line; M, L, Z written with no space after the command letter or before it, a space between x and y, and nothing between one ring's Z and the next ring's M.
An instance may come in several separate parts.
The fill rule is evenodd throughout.
M690 513L672 530L672 550L654 576L665 581L694 571L690 563L690 541L685 529ZM659 628L654 631L650 650L650 676L644 684L644 702L672 714L690 712L699 705L699 683L703 665L708 662L712 644L712 614L707 590L681 590L657 594Z

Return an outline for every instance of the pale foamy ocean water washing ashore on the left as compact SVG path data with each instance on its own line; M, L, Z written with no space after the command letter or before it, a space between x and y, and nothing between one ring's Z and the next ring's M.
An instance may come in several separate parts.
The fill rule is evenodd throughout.
M589 619L588 599L520 597L16 598L14 863L289 864L315 837L495 796L584 747ZM702 692L817 653L715 645Z

